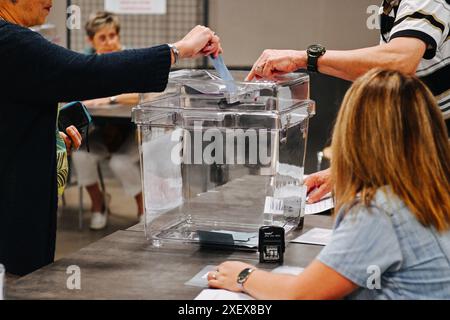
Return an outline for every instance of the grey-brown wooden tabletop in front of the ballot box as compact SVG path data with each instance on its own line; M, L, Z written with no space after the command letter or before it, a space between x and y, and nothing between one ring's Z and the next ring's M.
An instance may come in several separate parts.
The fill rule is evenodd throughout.
M303 230L330 228L330 216L306 216ZM118 231L28 276L6 283L7 299L191 300L203 288L185 285L206 265L242 260L258 265L258 254L201 249L195 245L153 247L142 225ZM306 267L321 246L289 243L285 266ZM81 270L81 289L70 290L69 266ZM258 265L269 269L271 265ZM272 268L275 266L272 266Z

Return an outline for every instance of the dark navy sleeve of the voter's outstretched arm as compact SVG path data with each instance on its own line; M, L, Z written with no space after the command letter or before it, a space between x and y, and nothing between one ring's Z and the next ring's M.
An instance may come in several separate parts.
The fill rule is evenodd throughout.
M0 25L1 94L21 102L59 102L159 92L170 71L167 45L84 55L27 28Z

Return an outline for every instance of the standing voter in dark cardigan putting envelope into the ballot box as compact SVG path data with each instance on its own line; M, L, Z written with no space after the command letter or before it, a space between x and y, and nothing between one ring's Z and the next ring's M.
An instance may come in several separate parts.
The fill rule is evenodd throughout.
M58 102L160 92L177 59L222 50L214 32L196 26L173 45L78 54L27 28L44 23L51 5L0 0L0 263L20 276L54 259Z

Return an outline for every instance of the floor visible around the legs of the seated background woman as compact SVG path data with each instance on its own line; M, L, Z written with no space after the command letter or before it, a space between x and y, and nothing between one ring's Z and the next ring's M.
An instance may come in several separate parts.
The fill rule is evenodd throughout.
M117 230L127 229L138 222L136 203L133 198L124 193L119 182L114 179L106 179L105 185L107 193L112 196L111 215L107 228L100 231L89 229L90 200L86 190L84 190L83 196L84 215L83 229L81 230L78 226L78 187L72 186L66 190L66 206L63 207L61 201L59 204L55 260L76 252Z

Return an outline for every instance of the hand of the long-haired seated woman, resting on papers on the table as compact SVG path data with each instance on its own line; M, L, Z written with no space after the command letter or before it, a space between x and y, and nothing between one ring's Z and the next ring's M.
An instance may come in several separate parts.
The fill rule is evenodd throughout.
M208 285L211 288L241 292L242 288L237 283L237 279L245 268L254 268L254 266L239 261L224 262L217 267L216 271L208 273Z

